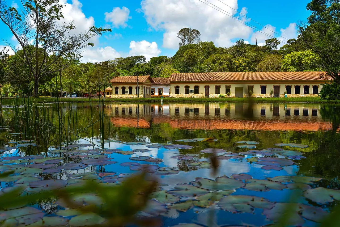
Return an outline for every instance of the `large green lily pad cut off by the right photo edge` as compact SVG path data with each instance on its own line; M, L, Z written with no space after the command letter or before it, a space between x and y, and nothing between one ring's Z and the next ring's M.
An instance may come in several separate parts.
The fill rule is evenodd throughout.
M340 200L340 190L328 188L313 188L305 191L304 196L313 202L326 204L334 200Z

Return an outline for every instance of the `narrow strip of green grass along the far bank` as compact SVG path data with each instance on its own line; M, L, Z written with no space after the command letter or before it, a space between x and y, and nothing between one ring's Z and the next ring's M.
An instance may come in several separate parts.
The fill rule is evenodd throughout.
M35 103L54 103L56 98L30 98ZM58 98L62 103L71 102L89 102L89 98ZM105 102L160 102L161 98L139 98L139 99L112 99L105 98ZM91 98L91 102L98 102L99 98ZM321 100L319 97L302 97L302 98L253 98L257 103L340 103L340 100ZM16 102L22 103L22 98L2 98L2 105L13 105ZM249 102L249 98L163 98L163 102Z

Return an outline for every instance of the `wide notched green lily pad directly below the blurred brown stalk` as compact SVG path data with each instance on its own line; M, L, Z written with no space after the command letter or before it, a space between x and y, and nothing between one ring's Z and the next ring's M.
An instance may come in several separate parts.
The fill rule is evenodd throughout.
M226 176L217 177L216 181L198 177L192 184L196 187L200 187L208 190L234 190L244 186L241 180L229 178Z

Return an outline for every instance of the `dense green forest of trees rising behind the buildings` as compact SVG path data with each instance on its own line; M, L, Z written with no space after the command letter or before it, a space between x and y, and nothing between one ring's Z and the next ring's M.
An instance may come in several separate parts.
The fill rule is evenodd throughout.
M169 77L176 72L327 71L334 78L333 85L325 88L328 94L331 93L328 98L340 97L340 43L337 41L340 3L312 0L307 9L312 12L308 24L301 24L297 39L290 39L283 46L277 38L270 38L261 47L247 44L242 39L231 47L216 47L214 42L200 41L198 30L184 28L177 34L180 45L174 56L157 56L149 62L145 56L128 56L95 64L84 63L80 61L79 53L68 50L68 54L57 56L55 52L47 54L47 49L38 45L23 46L23 50L12 56L3 50L0 52L2 95L36 96L37 92L51 95L56 89L61 90L60 85L68 93L97 93L109 86L109 80L115 76L137 74ZM95 29L92 36L109 32ZM35 55L29 58L27 52ZM40 70L50 58L53 59L49 64L52 69ZM35 60L37 64L34 65Z

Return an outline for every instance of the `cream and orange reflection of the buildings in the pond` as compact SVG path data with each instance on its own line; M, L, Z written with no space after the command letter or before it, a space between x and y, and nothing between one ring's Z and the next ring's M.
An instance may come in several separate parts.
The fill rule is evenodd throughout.
M251 111L251 112L250 112ZM320 104L297 103L170 103L106 104L117 126L149 128L168 123L186 129L328 130ZM245 116L252 116L252 119Z

